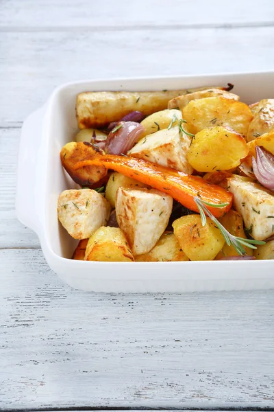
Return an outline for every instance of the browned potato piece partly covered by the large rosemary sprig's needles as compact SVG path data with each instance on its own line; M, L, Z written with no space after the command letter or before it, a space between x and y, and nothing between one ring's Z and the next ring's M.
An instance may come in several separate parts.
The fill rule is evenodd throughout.
M242 216L238 213L238 211L230 209L223 218L220 218L219 221L231 233L233 236L238 236L238 238L246 239L245 230L244 230L244 222L242 220ZM253 249L250 247L244 246L244 249L249 256L253 256ZM216 255L216 259L223 258L224 256L236 256L238 253L232 246L228 246L227 243L223 245L221 252Z

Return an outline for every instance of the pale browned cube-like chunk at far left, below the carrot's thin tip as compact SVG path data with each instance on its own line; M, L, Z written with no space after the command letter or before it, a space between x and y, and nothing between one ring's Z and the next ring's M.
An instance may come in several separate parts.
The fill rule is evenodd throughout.
M58 198L58 219L75 239L90 238L110 217L110 204L95 190L64 190Z

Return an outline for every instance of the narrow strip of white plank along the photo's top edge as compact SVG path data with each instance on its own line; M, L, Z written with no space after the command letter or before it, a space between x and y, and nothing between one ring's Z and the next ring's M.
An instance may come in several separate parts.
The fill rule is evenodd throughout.
M7 27L132 27L132 25L230 25L274 20L272 0L2 0L0 25Z

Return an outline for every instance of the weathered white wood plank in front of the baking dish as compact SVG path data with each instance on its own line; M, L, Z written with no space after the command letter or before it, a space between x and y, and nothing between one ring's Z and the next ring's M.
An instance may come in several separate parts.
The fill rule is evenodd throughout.
M271 290L84 293L0 259L0 408L274 407Z

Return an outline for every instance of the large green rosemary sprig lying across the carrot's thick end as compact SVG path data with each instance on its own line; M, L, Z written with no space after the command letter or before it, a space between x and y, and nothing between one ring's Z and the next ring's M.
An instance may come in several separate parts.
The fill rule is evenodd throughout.
M202 201L198 196L195 196L194 201L200 211L201 214L201 225L205 226L206 225L206 214L208 217L212 220L212 222L215 223L216 227L218 227L223 235L223 238L225 239L225 242L228 244L228 246L234 247L238 255L246 255L246 251L243 248L249 247L251 249L257 249L254 244L265 244L262 240L254 240L254 239L244 239L244 238L238 238L238 236L233 236L221 223L219 220L215 218L215 216L212 215L212 213L208 210L208 208L205 205L211 206L211 207L225 207L227 203L219 203L213 204L213 203L208 203L205 201Z

